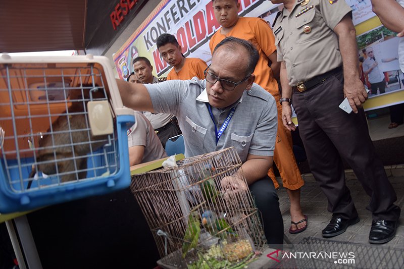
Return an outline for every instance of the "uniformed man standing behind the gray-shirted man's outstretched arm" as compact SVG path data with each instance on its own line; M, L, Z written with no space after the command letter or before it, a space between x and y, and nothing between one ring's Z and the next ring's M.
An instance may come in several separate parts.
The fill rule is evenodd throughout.
M137 57L133 59L132 65L137 79L142 84L159 83L167 79L166 77L158 79L153 76L153 66L145 57ZM172 114L154 114L148 111L143 111L143 115L150 121L151 126L153 126L164 148L166 147L166 142L169 138L182 133L178 126L177 118Z

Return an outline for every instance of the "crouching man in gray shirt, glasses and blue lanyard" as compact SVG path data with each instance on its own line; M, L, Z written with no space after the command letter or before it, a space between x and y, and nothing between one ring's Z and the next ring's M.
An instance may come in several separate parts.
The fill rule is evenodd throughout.
M187 157L234 146L248 188L262 213L270 244L282 244L278 196L267 176L273 163L277 130L274 97L254 84L258 51L248 41L228 37L215 48L206 80L129 84L117 80L124 104L132 109L177 116ZM224 189L246 188L225 178Z

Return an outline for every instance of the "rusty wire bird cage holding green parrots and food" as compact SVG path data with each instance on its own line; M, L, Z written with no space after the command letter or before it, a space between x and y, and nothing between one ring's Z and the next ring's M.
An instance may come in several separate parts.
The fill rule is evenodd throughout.
M266 240L236 150L185 158L177 165L133 175L131 181L162 257L159 264L242 268L254 260ZM223 189L221 182L229 177L245 188Z

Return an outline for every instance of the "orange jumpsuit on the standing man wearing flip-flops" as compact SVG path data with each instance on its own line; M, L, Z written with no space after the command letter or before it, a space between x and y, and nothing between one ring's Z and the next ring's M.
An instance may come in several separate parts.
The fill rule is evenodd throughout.
M228 34L221 34L220 30L221 28L212 36L209 42L212 53L216 45L227 36L234 36L250 41L260 53L260 59L254 70L254 74L256 75L255 83L275 97L278 109L278 130L275 141L274 162L282 177L283 187L296 190L305 183L301 178L294 158L292 136L282 123L282 106L279 103L278 83L273 76L271 68L268 66L268 56L276 51L275 37L272 29L262 19L240 17ZM275 188L278 188L279 184L276 181L272 168L268 171L268 176L274 182Z

